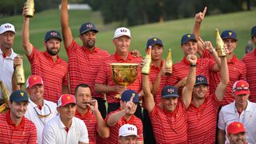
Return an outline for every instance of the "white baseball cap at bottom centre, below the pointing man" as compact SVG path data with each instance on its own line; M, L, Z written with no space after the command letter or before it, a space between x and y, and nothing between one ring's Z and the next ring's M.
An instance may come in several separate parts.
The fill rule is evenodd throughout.
M126 136L130 136L130 135L135 135L138 137L138 130L137 127L134 125L130 125L130 124L125 124L122 125L119 128L119 137L126 137Z

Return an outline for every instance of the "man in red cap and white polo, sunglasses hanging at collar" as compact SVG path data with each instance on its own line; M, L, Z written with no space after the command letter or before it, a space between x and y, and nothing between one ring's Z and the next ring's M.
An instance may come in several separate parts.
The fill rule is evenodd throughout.
M31 75L26 81L26 92L30 94L25 117L37 128L38 144L42 143L42 130L51 118L58 114L57 104L43 99L44 84L38 75Z

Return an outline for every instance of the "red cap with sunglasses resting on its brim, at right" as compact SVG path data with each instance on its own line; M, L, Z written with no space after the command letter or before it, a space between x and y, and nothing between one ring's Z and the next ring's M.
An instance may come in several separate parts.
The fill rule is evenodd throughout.
M234 82L233 92L235 95L250 94L248 82L244 80L239 80L237 82Z

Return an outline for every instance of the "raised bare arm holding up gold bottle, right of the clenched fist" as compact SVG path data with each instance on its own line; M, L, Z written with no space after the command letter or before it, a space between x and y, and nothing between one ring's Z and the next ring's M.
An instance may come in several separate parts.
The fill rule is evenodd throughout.
M227 48L226 48L226 51L227 51ZM226 52L226 54L227 53L228 52ZM230 82L230 74L227 66L226 57L221 58L221 65L222 65L221 66L221 82L218 83L218 86L215 90L215 95L216 95L216 98L218 99L218 102L222 101L226 92L226 86Z

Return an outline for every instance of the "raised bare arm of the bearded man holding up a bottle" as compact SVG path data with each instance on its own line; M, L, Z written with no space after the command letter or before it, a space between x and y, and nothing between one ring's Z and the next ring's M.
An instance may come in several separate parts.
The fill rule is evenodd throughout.
M22 25L22 47L26 54L30 56L33 50L33 46L30 43L30 18L26 18L27 7L23 7L23 25Z

